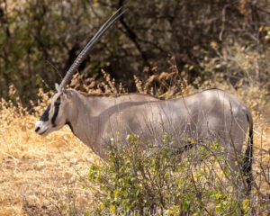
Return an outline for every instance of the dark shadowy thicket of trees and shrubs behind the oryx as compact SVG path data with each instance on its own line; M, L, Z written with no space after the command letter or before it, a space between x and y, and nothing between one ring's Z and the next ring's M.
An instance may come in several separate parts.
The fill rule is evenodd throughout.
M220 74L236 85L269 89L268 0L54 1L0 3L0 96L16 90L23 103L60 82L76 55L104 20L125 5L125 14L79 68L102 77L101 68L135 90L140 78L166 71L167 59L189 84Z

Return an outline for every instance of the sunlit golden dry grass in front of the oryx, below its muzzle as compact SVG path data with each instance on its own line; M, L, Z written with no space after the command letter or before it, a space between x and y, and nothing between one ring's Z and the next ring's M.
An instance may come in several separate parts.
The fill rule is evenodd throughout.
M98 158L69 129L41 138L33 131L35 116L1 106L0 215L85 211L87 170Z

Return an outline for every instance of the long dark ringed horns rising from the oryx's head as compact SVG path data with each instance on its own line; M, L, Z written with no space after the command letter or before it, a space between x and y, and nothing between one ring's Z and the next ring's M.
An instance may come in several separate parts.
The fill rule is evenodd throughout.
M61 84L59 85L59 90L62 90L66 87L66 85L70 82L72 76L76 72L77 68L81 65L83 60L85 59L88 52L93 48L94 43L99 40L105 31L107 31L112 24L118 20L119 17L121 17L122 14L124 14L125 11L122 10L122 8L119 8L111 17L109 20L106 21L106 23L103 24L103 26L94 34L94 37L88 41L85 48L80 52L80 54L77 56L71 67L67 70L66 76L63 78Z

